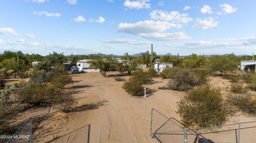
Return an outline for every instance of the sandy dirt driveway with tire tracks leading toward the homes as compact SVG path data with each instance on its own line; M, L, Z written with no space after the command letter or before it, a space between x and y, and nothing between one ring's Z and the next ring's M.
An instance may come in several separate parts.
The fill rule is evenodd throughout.
M86 104L92 108L86 113L75 113L68 123L73 128L91 124L90 142L156 142L149 136L151 108L179 119L175 111L182 93L158 90L167 80L156 78L155 84L147 85L158 90L147 98L128 95L122 89L123 82L113 77L102 78L100 73L76 74L73 80L71 86L79 92L75 94L79 99L77 106Z

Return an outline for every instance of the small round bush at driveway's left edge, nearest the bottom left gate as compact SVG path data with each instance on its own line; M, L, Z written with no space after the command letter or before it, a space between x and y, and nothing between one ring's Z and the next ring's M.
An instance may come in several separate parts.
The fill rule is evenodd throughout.
M54 105L61 112L68 113L77 102L71 94L62 93L54 97Z

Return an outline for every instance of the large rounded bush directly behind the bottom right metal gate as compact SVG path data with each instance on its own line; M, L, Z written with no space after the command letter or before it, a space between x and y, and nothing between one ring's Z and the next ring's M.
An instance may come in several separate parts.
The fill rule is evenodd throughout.
M186 125L209 127L226 121L221 94L216 89L203 86L188 91L178 102L178 113Z

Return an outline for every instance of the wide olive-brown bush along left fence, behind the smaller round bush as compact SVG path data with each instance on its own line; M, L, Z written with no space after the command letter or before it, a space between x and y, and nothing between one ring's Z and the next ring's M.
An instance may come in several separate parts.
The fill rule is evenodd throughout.
M58 92L58 90L47 86L45 83L35 83L22 87L18 95L22 103L31 106L40 106L51 104L52 99Z

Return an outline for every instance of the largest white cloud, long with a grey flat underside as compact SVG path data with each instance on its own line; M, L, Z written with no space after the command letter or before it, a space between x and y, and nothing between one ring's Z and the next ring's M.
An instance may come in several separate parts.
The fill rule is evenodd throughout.
M118 31L140 35L141 33L163 32L170 28L181 28L180 24L170 23L167 21L145 20L136 23L119 23Z

